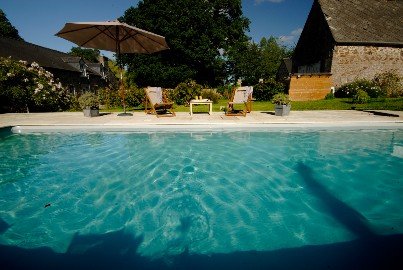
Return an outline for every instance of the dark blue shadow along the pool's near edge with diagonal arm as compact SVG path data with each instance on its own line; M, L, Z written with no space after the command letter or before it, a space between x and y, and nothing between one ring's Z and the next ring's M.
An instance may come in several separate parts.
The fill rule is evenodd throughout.
M376 235L365 218L332 196L303 163L296 170L323 209L357 236L356 240L274 251L183 254L151 259L137 253L142 242L124 230L73 237L66 253L50 248L0 245L1 269L403 269L403 235ZM7 225L8 226L8 225ZM8 228L8 227L7 227Z

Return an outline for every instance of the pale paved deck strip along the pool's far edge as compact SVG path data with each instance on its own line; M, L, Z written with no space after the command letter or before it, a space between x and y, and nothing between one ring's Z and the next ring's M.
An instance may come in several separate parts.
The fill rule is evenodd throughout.
M144 112L132 116L103 113L99 117L84 117L82 112L7 113L0 114L0 127L55 128L166 128L166 127L397 127L403 128L403 111L291 111L289 116L275 116L274 112L255 111L242 116L225 116L223 112L193 114L179 112L176 117L159 117Z

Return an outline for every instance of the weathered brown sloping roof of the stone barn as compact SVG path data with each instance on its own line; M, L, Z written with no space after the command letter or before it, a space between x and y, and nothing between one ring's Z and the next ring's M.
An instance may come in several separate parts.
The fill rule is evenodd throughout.
M403 45L403 1L317 1L336 43Z

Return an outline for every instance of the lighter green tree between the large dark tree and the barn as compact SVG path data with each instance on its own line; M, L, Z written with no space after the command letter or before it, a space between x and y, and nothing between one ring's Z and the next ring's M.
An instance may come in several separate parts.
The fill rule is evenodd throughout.
M258 44L247 41L228 51L228 72L234 81L241 78L244 84L254 85L259 79L274 78L281 60L292 52L272 36L262 38Z

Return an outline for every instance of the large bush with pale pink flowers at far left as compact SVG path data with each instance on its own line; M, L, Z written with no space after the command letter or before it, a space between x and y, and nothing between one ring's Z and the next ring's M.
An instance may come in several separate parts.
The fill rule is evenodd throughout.
M37 63L0 58L0 111L61 111L70 96L53 74Z

